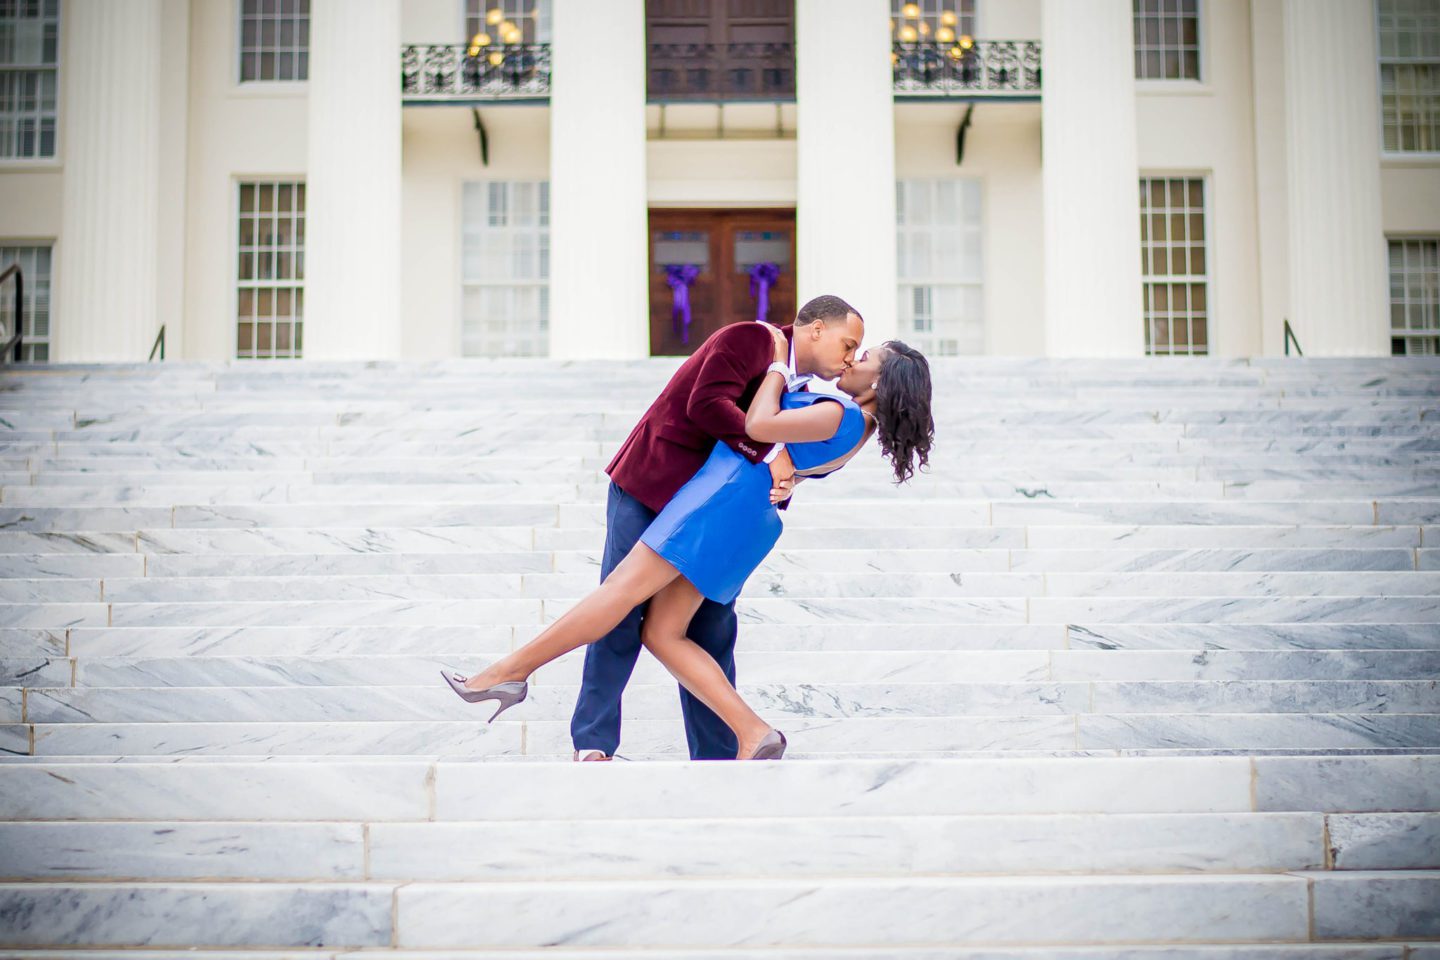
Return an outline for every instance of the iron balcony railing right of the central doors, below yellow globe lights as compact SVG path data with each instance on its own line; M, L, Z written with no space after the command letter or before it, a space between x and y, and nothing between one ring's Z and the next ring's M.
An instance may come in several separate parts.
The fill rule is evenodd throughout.
M914 99L1037 99L1037 40L896 43L891 50L894 95Z

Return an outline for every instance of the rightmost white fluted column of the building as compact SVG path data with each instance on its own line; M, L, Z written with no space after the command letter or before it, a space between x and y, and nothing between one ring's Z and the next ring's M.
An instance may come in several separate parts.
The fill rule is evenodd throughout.
M1306 356L1390 353L1368 3L1284 0L1290 327Z

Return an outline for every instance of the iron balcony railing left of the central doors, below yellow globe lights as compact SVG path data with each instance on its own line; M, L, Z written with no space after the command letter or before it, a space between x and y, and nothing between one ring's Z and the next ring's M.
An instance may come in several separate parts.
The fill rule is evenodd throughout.
M412 43L400 50L406 104L485 104L550 99L550 45Z

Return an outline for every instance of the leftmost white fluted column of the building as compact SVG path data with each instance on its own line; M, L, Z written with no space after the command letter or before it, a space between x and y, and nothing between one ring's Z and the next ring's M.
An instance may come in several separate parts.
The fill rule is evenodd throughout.
M160 330L160 0L65 4L58 361L145 360Z

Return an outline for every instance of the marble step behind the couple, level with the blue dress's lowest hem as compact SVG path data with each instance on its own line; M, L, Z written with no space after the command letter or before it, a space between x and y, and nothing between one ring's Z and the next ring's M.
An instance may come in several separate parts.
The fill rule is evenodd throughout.
M756 571L743 597L1339 597L1434 596L1440 571L891 573ZM0 603L233 603L288 600L467 600L582 597L598 570L580 573L209 576L0 580ZM102 589L104 584L104 589Z

